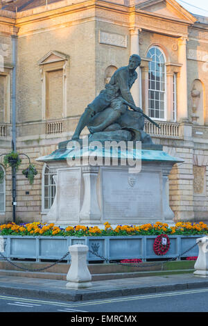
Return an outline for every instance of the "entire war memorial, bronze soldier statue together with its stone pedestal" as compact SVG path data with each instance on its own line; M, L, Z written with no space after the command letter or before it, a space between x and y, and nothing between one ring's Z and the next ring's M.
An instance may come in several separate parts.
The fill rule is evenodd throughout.
M160 216L162 222L173 223L166 181L173 165L183 161L163 152L144 132L145 117L159 125L135 106L130 93L140 64L138 55L130 56L128 66L116 70L87 106L71 140L37 159L57 174L55 199L44 222L132 225L157 222ZM86 125L90 133L80 139ZM128 165L130 158L135 167Z

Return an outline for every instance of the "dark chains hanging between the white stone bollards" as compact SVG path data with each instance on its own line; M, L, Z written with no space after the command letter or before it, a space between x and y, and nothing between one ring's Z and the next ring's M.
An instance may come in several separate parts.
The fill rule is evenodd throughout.
M198 241L198 243L201 241ZM189 252L190 250L192 250L194 247L196 247L196 245L198 245L198 243L195 243L194 245L192 245L191 247L189 247L189 249L185 250L184 252L182 252L182 254L171 258L171 259L167 259L166 261L159 261L156 263L138 263L138 264L133 264L133 263L121 263L118 261L110 261L110 263L116 263L117 265L121 265L121 266L128 266L128 267L135 267L135 268L144 268L144 267L153 267L153 266L159 266L162 263L168 263L169 261L176 261L177 259L179 259L180 257L182 257L184 254L187 254L187 252ZM102 261L106 261L107 259L104 256L101 256L99 254L97 254L96 252L89 250L89 253L94 254L94 256L97 256L98 258L100 258ZM43 270L47 270L55 265L57 265L58 263L60 263L61 261L64 261L64 259L69 255L69 252L67 252L66 254L64 254L64 256L62 256L62 258L60 258L58 261L55 261L54 263L51 263L51 265L49 266L45 266L43 268L24 268L22 266L17 265L16 263L13 263L13 261L10 261L10 259L8 259L6 256L4 256L2 254L2 252L0 252L0 256L3 260L8 261L8 263L10 263L12 266L18 268L19 270L24 270L27 272L42 272Z

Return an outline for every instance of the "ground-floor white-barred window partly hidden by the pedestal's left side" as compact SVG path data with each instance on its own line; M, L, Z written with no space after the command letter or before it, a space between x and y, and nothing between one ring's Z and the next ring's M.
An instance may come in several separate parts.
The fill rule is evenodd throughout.
M48 165L44 165L42 172L42 209L50 209L55 198L55 181Z

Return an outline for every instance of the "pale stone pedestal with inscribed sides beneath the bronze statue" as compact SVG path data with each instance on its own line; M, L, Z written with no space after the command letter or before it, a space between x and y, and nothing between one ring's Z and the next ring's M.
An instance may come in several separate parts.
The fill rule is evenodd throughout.
M70 167L66 157L67 152L62 151L60 156L57 151L38 159L57 172L55 200L44 222L100 227L106 221L112 225L158 220L173 223L166 183L173 165L182 161L180 158L162 150L141 149L141 171L136 172L128 164L101 165L99 160L97 166L82 165L80 161L79 166Z

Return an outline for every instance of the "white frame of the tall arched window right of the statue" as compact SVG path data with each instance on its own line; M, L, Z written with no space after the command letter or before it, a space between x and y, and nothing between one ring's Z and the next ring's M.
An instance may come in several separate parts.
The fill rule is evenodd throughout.
M152 90L149 88L149 79L148 79L148 115L153 119L153 120L159 120L159 121L166 121L167 120L167 81L166 81L166 55L164 54L164 51L161 49L161 47L158 47L156 45L153 45L153 47L150 47L148 49L148 52L150 51L150 49L159 49L159 51L162 53L162 55L164 56L164 91L160 91L159 92L164 92L164 118L161 117L151 117L149 114L149 110L150 110L150 98L149 98L149 92L150 91L157 91L157 90ZM150 66L151 62L149 63ZM148 72L149 73L149 72Z

